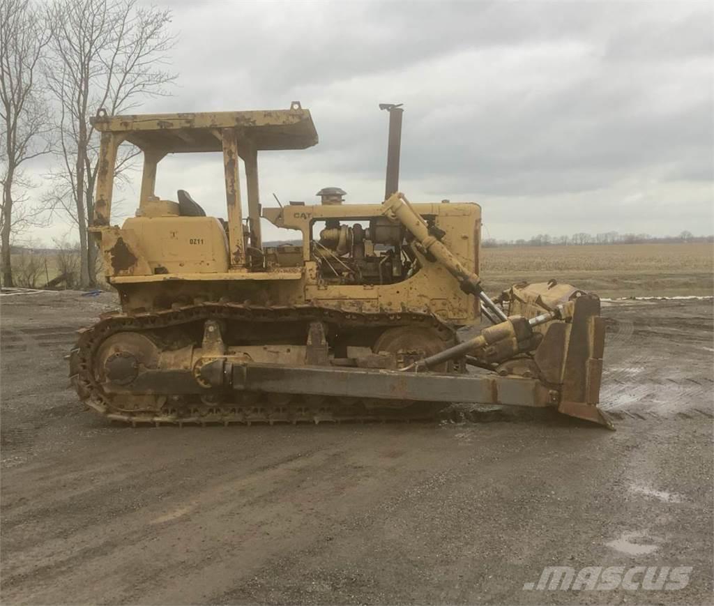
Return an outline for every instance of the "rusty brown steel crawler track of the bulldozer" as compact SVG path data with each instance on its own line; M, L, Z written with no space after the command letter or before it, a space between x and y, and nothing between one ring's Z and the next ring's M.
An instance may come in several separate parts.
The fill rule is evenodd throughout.
M134 425L208 423L321 423L365 422L375 420L426 420L435 418L448 402L410 402L370 398L327 398L322 395L282 393L216 393L208 397L169 395L157 397L151 410L129 408L118 403L97 382L94 372L96 352L106 338L122 331L161 333L181 331L208 319L228 323L291 323L321 321L334 330L386 329L418 326L436 330L445 343L454 338L454 330L426 313L358 313L319 308L313 305L292 307L256 307L236 303L202 303L153 313L127 315L113 313L98 323L79 331L79 339L70 355L70 376L81 400L106 418ZM190 330L186 330L190 332Z

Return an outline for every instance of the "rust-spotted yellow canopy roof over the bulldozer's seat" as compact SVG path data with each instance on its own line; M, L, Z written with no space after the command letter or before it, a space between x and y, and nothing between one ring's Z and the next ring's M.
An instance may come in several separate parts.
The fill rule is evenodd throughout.
M310 111L293 101L290 109L218 111L205 113L145 113L106 116L91 123L98 131L123 133L141 149L166 153L221 151L221 129L238 128L256 149L304 149L316 145L317 131Z

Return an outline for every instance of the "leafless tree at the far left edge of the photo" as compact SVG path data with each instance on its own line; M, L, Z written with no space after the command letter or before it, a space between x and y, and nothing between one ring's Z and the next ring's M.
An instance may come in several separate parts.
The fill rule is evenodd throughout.
M0 212L1 263L5 286L13 286L11 238L36 213L26 207L34 186L23 164L48 153L49 119L39 66L49 41L46 22L29 0L0 0L0 119L3 169ZM21 193L17 193L20 190Z

